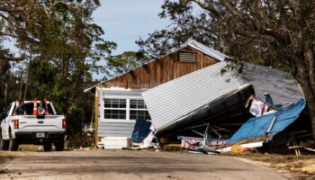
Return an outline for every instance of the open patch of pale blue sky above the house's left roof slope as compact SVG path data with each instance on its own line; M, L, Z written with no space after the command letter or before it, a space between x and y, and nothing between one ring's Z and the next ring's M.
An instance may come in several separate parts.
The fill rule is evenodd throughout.
M138 50L135 40L146 38L148 33L168 25L159 19L164 0L103 0L94 12L94 23L105 31L105 40L112 40L118 47L112 54L127 50Z

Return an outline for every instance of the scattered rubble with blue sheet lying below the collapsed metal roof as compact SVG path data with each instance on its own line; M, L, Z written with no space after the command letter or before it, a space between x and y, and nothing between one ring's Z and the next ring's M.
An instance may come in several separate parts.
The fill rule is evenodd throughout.
M247 107L247 115L250 113L254 117L239 124L238 130L235 127L227 128L229 123L226 123L228 126L225 128L221 126L225 121L230 121L229 119L220 121L220 125L200 121L201 124L181 130L170 130L168 131L170 136L167 136L165 132L164 136L158 138L172 139L176 136L182 150L202 154L257 152L257 149L264 150L266 147L269 148L268 150L274 149L275 151L276 147L286 147L286 152L293 149L297 156L301 155L301 149L315 152L315 149L311 148L314 145L313 141L307 139L310 138L311 130L300 130L301 124L305 123L301 118L306 105L305 99L302 98L292 104L275 105L269 94L265 94L265 96L268 102L258 101L253 95L248 98L244 104ZM243 114L239 117L246 116ZM135 129L137 128L135 127ZM156 132L152 125L151 129L150 140L156 137L152 136ZM139 148L148 148L148 146L139 146Z

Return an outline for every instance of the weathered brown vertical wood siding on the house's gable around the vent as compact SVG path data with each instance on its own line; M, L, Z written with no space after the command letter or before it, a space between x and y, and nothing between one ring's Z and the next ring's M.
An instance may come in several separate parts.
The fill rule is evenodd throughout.
M180 62L179 53L196 54L196 62ZM158 58L146 65L135 68L121 76L108 80L104 86L124 87L130 89L152 88L177 77L187 75L203 67L216 63L216 60L200 51L187 47L165 57Z

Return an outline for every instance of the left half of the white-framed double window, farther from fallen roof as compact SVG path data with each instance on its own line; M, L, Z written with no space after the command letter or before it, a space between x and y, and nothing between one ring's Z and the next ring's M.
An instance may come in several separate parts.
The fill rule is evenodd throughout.
M125 99L104 99L104 119L125 120L127 112Z

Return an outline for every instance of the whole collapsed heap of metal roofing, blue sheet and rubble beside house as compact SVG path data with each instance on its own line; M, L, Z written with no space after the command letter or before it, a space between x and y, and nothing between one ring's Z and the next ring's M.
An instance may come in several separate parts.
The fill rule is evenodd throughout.
M130 147L311 153L311 121L293 76L251 64L222 73L226 66L218 62L141 92L151 120L136 121Z

